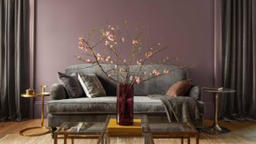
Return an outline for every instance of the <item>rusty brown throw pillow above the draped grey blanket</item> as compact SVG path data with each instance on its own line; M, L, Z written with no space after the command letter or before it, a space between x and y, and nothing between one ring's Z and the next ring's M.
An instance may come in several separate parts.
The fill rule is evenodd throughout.
M166 95L177 97L177 96L183 96L186 94L187 90L190 90L190 87L192 86L192 79L186 79L183 81L178 81L174 83L172 86L170 86L169 90L167 90Z

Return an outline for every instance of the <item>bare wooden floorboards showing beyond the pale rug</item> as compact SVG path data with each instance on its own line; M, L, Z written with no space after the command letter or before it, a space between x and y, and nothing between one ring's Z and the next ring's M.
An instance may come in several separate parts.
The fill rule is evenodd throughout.
M22 128L40 126L40 124L41 119L30 119L24 122L0 122L0 138L6 134L18 134ZM211 120L205 121L205 126L210 126L211 124ZM47 120L45 120L45 125L47 125ZM219 122L219 125L251 138L256 137L256 122Z

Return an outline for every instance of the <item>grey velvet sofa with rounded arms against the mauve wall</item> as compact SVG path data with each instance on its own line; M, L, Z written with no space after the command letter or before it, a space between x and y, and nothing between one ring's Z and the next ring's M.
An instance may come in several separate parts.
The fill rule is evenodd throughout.
M142 70L154 70L157 65L143 66ZM108 69L102 65L103 69ZM130 66L130 69L134 69ZM152 78L141 84L134 84L134 114L147 114L151 122L167 122L166 111L162 102L158 99L147 97L149 94L166 94L174 82L187 78L186 70L178 66L162 66L166 70L174 70L171 74L158 78ZM80 72L83 74L97 74L102 86L106 90L105 97L98 98L72 98L68 99L65 88L55 83L50 88L51 100L47 102L48 125L51 130L56 130L63 122L104 122L107 114L116 113L116 83L112 82L102 74L98 66L82 64L69 66L66 68L66 74ZM202 127L203 115L205 114L205 103L200 101L200 89L198 86L192 86L186 94L191 98L196 98L200 112L200 119L192 122L196 127Z

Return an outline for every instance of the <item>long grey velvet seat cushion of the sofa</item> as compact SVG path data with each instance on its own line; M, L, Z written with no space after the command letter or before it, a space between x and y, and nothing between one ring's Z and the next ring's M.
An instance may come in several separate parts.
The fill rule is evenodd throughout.
M115 114L115 96L74 98L47 102L49 114ZM134 113L163 113L166 110L158 99L134 96Z

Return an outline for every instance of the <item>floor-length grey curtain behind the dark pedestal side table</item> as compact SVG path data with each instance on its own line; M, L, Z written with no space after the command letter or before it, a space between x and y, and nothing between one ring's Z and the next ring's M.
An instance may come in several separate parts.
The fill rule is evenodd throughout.
M220 118L256 121L256 0L222 0Z

